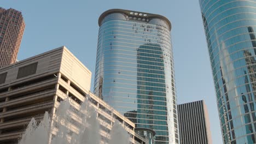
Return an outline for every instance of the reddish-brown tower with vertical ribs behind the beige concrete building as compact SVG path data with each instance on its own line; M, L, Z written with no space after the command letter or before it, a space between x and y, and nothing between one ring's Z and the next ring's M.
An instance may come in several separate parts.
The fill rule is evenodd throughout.
M0 68L16 62L24 28L20 11L0 7Z

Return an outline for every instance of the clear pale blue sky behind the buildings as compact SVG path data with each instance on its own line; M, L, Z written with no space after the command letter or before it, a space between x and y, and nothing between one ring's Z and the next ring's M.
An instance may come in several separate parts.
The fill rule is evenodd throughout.
M213 143L223 143L198 0L1 0L0 7L14 8L24 16L26 27L19 61L65 45L91 70L91 84L94 83L98 17L104 11L118 8L166 16L172 23L178 104L205 100Z

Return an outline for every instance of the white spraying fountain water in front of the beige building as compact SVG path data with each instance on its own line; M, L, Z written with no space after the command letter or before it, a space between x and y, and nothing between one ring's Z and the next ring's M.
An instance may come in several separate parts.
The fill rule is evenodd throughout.
M69 99L61 101L53 116L54 123L49 118L48 112L45 112L44 119L39 124L32 118L19 144L129 144L130 135L119 122L115 122L110 131L109 142L102 141L97 111L88 98L78 111L71 106L72 102ZM57 128L57 133L50 138L50 132L56 129L53 125ZM69 128L75 130L71 131Z

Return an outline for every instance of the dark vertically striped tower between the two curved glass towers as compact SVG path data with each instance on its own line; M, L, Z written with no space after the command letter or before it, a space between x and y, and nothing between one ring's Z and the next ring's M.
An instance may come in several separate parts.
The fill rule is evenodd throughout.
M181 144L212 144L210 121L203 100L178 105Z

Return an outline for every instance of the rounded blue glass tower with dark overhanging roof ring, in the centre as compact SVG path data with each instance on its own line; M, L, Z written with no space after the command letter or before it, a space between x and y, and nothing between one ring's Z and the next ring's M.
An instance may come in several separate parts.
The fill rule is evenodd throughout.
M101 14L94 93L156 143L179 143L171 23L161 15L110 9Z

